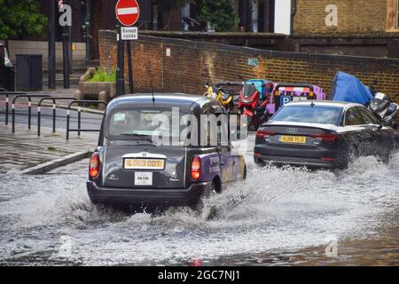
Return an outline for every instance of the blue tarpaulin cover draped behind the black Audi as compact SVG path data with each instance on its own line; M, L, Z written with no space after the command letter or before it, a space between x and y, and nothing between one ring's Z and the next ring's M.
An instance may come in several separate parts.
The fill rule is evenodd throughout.
M338 72L332 82L332 100L368 104L372 91L353 75Z

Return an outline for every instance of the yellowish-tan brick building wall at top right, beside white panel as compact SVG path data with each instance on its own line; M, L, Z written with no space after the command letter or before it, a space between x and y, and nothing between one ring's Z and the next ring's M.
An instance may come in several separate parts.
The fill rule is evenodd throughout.
M387 29L387 0L297 0L294 34L373 33ZM326 27L325 7L338 7L338 27Z

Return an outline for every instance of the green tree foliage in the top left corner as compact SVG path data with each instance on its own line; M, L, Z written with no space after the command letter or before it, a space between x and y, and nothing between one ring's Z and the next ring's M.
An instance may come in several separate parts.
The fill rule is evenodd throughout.
M35 0L0 0L0 39L11 36L40 35L47 18L39 13Z

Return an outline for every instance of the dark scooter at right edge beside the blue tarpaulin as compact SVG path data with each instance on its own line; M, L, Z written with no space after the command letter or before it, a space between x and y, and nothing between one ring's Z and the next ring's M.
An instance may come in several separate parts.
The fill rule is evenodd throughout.
M399 94L396 94L396 96L399 96ZM376 93L369 105L369 110L371 110L375 116L394 129L397 129L398 109L399 106L393 103L387 95L382 92Z

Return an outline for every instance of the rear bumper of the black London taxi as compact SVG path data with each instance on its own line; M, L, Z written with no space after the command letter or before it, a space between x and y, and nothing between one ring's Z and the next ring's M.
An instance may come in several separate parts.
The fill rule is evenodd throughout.
M90 201L95 204L133 206L192 206L212 190L212 182L192 184L187 189L128 189L100 187L87 182Z

